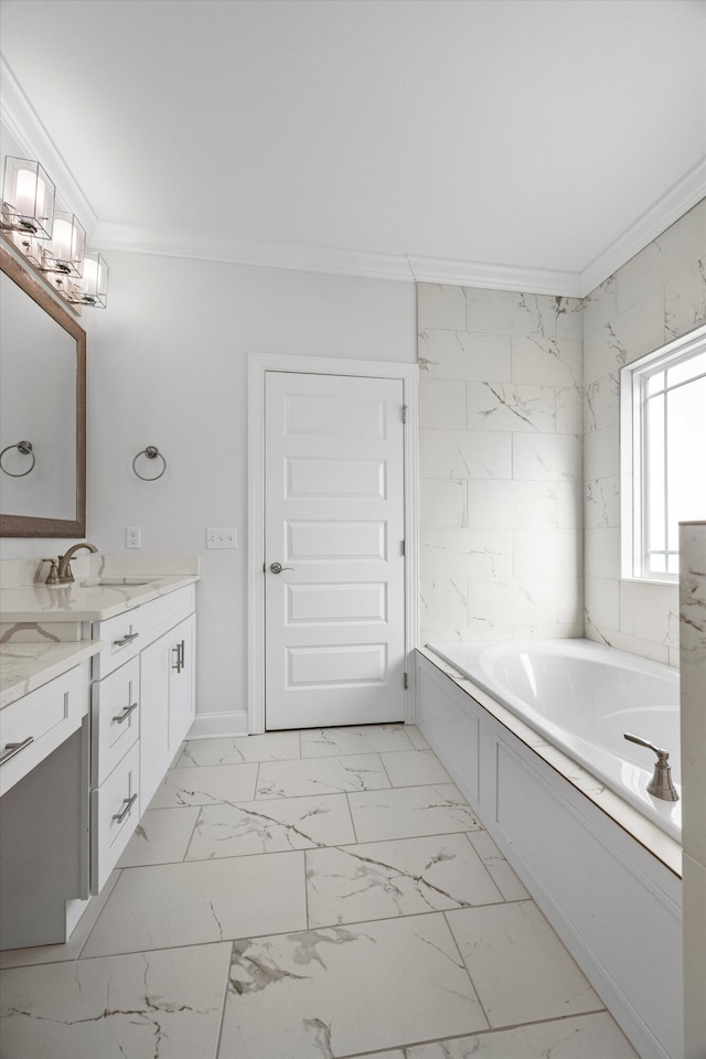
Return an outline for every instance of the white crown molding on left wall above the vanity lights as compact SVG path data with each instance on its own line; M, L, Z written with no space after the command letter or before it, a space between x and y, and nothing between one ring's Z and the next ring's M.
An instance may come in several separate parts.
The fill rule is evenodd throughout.
M88 238L93 240L98 217L2 54L0 121L22 149L24 158L42 163L56 184L60 199L76 214Z

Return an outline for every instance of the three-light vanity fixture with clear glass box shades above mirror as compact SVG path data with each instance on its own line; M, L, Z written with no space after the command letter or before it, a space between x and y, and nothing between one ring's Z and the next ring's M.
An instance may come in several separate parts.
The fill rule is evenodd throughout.
M71 304L106 308L108 266L100 254L86 250L84 226L56 201L39 162L6 159L0 229Z

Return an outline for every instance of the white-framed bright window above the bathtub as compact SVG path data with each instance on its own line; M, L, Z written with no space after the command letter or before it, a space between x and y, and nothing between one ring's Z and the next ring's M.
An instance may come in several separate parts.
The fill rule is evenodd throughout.
M678 577L678 523L706 518L706 327L620 372L622 575Z

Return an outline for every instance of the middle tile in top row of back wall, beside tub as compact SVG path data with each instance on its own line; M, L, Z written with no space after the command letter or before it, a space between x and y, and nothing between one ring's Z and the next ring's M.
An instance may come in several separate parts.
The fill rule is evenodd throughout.
M466 288L467 331L492 334L556 335L557 299L513 290ZM563 314L564 315L564 314Z

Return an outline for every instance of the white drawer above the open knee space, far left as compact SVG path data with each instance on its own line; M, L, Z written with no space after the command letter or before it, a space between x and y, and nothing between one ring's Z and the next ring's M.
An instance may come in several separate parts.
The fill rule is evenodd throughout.
M0 710L0 795L81 727L88 712L88 663L30 692ZM12 753L8 744L24 744Z

